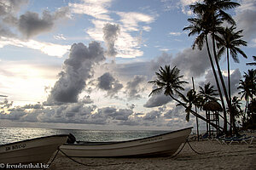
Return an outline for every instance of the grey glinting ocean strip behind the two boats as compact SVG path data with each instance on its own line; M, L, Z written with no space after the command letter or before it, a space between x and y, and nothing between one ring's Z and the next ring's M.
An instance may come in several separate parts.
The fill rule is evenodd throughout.
M154 136L167 131L115 131L115 130L81 130L34 127L0 127L0 144L9 144L20 140L33 139L55 134L72 133L78 141L122 141Z

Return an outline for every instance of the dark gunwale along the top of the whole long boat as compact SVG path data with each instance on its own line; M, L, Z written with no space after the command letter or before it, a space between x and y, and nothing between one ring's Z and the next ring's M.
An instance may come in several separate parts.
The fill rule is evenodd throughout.
M186 128L183 128L183 129L179 129L179 130L176 130L176 131L172 131L172 132L167 132L167 133L160 133L160 134L157 134L157 135L154 135L154 136L148 136L148 137L145 137L145 138L141 138L141 139L131 139L131 140L124 140L124 141L113 141L113 142L88 142L88 143L84 143L84 144L62 144L62 146L65 146L65 145L104 145L104 144L121 144L121 143L127 143L127 142L133 142L133 141L138 141L138 140L144 140L144 139L151 139L151 138L157 138L157 137L160 137L160 136L163 136L163 135L166 135L166 134L171 134L171 133L177 133L177 132L180 132L180 131L184 131L184 130L188 130L188 129L191 129L193 127L186 127ZM79 141L79 142L84 142L84 141ZM66 148L65 148L66 149Z

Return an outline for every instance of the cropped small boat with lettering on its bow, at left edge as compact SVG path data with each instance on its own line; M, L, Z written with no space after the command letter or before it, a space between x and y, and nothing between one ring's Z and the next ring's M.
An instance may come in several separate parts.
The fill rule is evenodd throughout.
M1 163L46 163L68 135L52 135L0 145Z

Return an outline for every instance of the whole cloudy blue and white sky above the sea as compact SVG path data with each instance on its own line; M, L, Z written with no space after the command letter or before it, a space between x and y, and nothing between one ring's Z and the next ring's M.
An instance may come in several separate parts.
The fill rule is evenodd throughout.
M196 0L2 0L0 127L175 130L195 127L164 94L148 96L160 66L192 88L215 85L206 48L183 31ZM247 47L232 59L232 94L256 49L256 1L227 11ZM219 61L224 78L226 59ZM216 87L216 86L215 86ZM204 116L204 112L200 113ZM205 125L201 122L201 129Z

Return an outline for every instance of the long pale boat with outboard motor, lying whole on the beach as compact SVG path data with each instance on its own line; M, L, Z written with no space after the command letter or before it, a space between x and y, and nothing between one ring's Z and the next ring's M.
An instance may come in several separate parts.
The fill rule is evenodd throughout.
M119 142L77 142L63 144L60 150L71 157L165 156L174 154L186 141L191 128L143 139Z

